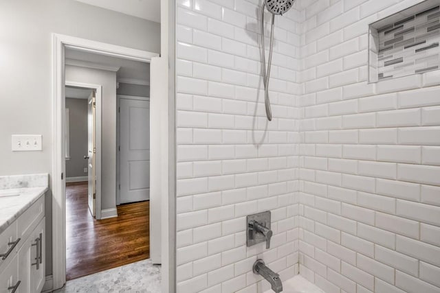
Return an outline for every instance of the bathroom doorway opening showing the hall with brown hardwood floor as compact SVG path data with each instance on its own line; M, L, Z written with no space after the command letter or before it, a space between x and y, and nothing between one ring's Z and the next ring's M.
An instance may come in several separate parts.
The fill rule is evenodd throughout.
M153 266L149 75L148 62L65 49L67 281Z

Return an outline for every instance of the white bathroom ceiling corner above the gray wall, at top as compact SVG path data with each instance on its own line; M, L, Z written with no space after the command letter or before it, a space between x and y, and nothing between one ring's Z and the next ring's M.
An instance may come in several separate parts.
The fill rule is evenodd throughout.
M160 23L160 0L76 0Z

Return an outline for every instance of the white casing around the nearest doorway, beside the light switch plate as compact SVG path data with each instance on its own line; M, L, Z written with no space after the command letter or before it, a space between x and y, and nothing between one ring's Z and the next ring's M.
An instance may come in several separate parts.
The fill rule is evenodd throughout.
M66 240L65 240L65 141L64 141L64 115L65 115L65 48L88 51L91 53L113 56L129 60L141 62L151 62L151 58L158 57L159 54L122 47L108 43L101 43L95 40L87 40L84 38L76 38L64 34L52 34L52 290L62 288L66 282ZM170 105L174 105L174 95L167 97L172 99ZM168 104L169 105L169 104ZM168 117L174 121L173 117ZM173 122L174 125L174 122ZM172 133L164 134L171 139L168 140L170 148L174 149L174 135ZM175 161L168 161L172 169L174 169ZM168 180L168 178L164 178ZM172 181L173 182L173 181ZM174 185L175 183L173 183ZM170 196L174 198L173 196ZM163 210L168 215L168 204L162 205ZM171 207L173 210L173 207ZM170 215L173 212L169 213ZM165 227L164 227L165 228ZM173 231L170 231L173 230ZM175 226L166 225L164 229L166 236L175 235ZM169 250L164 251L162 255L166 255L165 261L175 259L175 247L173 255L168 255ZM168 263L166 263L168 265ZM174 269L175 270L175 269ZM174 274L169 276L168 270L162 271L164 280L174 279ZM164 275L165 274L165 275ZM171 288L175 284L167 284Z

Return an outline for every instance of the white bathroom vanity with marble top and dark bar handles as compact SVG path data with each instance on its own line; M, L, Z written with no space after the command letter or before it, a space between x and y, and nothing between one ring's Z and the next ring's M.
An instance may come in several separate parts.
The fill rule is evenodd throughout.
M0 292L43 289L47 183L47 174L0 177Z

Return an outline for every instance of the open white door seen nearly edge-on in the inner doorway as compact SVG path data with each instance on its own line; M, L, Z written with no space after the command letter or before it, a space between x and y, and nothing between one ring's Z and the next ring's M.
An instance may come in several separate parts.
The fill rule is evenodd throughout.
M89 180L88 201L89 210L93 216L96 215L96 98L95 91L89 96L89 110L87 114L87 177Z

